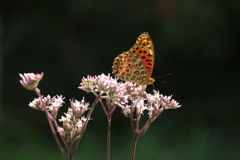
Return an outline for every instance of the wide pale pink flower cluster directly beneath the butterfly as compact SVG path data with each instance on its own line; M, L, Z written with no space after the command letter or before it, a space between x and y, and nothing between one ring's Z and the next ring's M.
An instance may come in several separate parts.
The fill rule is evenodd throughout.
M89 82L93 83L89 83ZM148 110L149 118L156 118L164 109L176 109L181 107L172 96L163 96L159 92L154 94L146 93L146 86L136 85L131 82L119 83L117 79L101 74L94 78L88 76L83 78L79 89L99 92L105 94L111 101L111 105L118 105L122 108L125 116L129 116L132 110L136 109L137 116L141 116L145 110ZM144 102L147 100L147 103Z

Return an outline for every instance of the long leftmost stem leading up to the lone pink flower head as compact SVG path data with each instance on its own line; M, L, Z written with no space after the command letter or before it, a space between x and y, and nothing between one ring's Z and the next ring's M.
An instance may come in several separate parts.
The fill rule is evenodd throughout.
M47 110L47 106L46 106L46 104L45 104L45 103L43 102L43 100L42 100L42 95L40 94L38 88L35 88L34 91L36 92L36 94L38 95L38 97L39 97L40 100L41 100L41 103L42 103L43 106L44 106L44 110L45 110L45 113L46 113L46 116L47 116L47 119L48 119L48 123L49 123L50 128L51 128L51 131L52 131L52 133L53 133L53 136L54 136L54 138L55 138L55 140L56 140L56 142L57 142L57 144L58 144L58 147L60 148L60 150L61 150L64 158L67 160L67 159L68 159L68 158L67 158L67 155L66 155L66 153L65 153L65 151L64 151L64 149L63 149L63 147L62 147L62 145L61 145L61 143L60 143L60 141L59 141L59 139L58 139L58 137L57 137L57 134L56 134L55 129L54 129L53 124L52 124L52 120L51 120L51 118L50 118L50 116L49 116L49 113L48 113L48 110Z

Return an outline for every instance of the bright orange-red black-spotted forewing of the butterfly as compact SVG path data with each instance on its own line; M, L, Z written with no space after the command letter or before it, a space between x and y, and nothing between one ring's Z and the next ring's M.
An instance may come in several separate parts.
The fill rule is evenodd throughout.
M137 53L145 65L148 78L151 77L154 67L154 46L150 35L147 32L142 33L136 40L135 45L129 50L129 52Z

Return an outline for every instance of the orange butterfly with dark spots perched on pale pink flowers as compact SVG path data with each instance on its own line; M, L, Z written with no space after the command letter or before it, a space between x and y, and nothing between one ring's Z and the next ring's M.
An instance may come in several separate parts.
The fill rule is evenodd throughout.
M150 35L142 33L135 45L114 59L112 73L123 81L138 85L153 84L154 47Z

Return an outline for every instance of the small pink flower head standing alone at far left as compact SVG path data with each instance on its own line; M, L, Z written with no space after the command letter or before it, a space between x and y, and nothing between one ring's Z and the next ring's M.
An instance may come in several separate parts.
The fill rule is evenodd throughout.
M43 73L24 73L23 75L20 73L19 76L22 78L22 80L20 80L20 83L23 87L28 90L34 90L35 88L37 88L39 82L42 80Z

